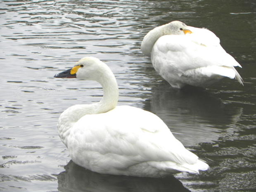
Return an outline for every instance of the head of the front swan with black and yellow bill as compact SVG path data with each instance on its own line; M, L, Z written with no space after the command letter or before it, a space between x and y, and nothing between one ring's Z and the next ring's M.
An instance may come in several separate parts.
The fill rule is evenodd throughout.
M109 67L95 57L84 57L71 69L57 73L55 78L80 78L98 81L102 73L109 71Z

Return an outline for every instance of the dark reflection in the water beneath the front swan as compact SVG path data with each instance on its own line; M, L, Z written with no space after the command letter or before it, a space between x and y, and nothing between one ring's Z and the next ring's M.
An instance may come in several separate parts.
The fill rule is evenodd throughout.
M165 178L140 178L107 175L92 172L73 161L59 173L58 190L61 192L190 192L174 176Z

